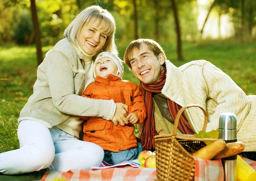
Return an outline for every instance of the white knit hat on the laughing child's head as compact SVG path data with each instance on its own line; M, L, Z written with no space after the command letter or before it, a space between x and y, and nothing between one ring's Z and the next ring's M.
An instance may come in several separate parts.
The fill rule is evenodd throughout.
M104 57L109 57L111 58L115 63L116 63L116 66L117 66L117 72L116 72L116 75L119 76L120 78L122 78L122 76L124 75L124 66L123 64L125 63L123 60L121 60L116 54L113 54L111 52L101 52L97 57L96 57L96 60L94 62L94 72L93 72L93 75L94 77L96 78L96 74L95 74L95 66L96 66L96 63L98 60L104 58Z

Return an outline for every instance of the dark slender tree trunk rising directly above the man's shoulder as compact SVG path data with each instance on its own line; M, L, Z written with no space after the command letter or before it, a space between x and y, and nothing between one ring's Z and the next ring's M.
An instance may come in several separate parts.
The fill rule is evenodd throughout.
M181 35L180 35L180 24L179 24L179 18L178 18L178 16L179 16L178 9L177 9L175 0L171 0L171 2L172 2L172 10L173 10L174 20L175 20L175 25L176 25L178 60L183 60L182 42L181 42Z

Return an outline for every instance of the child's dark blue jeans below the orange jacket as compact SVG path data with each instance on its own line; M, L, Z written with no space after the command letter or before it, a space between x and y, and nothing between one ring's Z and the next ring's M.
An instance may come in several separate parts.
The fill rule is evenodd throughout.
M142 144L137 143L137 147L133 147L130 149L123 150L121 152L111 152L108 150L104 150L104 158L103 161L108 164L119 164L123 161L131 161L138 159L140 152L143 151Z

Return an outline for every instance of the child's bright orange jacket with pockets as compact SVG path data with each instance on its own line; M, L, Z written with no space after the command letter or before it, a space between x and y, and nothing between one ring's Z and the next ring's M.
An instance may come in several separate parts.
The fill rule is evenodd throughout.
M110 74L107 78L97 77L81 95L93 99L113 99L115 103L125 103L129 113L135 113L141 123L146 117L144 98L136 83L122 80ZM99 117L81 117L84 121L84 141L89 141L101 146L104 150L120 152L137 146L134 135L134 125L127 124L115 126L112 121Z

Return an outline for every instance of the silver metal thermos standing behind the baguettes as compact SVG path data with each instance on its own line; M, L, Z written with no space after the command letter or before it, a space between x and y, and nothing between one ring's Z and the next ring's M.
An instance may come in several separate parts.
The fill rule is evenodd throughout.
M221 114L219 122L219 138L226 143L236 142L236 115L230 112ZM224 181L236 181L236 155L222 158Z

